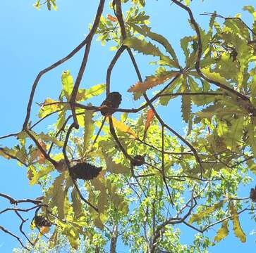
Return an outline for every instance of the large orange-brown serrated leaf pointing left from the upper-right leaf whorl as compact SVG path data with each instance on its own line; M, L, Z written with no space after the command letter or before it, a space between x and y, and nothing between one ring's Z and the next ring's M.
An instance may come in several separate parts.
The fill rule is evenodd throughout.
M168 79L171 77L176 77L178 73L173 72L170 74L166 74L164 76L156 77L156 76L150 76L145 79L144 82L137 82L133 86L128 89L128 92L145 92L147 89L152 89L154 86L157 86L159 84L164 84Z

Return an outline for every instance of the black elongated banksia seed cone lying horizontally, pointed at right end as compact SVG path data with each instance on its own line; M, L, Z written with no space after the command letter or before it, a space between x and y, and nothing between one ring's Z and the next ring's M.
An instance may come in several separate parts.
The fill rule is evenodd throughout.
M73 179L94 179L102 171L102 167L96 167L87 162L79 162L71 167L71 176Z

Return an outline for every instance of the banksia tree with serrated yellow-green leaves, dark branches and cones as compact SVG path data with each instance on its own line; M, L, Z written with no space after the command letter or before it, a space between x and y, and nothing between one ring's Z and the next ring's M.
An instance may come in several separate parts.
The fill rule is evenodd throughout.
M66 236L71 247L85 244L87 252L116 252L117 242L131 252L206 252L233 230L245 242L239 215L255 220L256 188L248 197L238 195L241 184L251 184L255 174L255 36L240 16L209 15L209 29L202 30L189 7L190 1L173 0L189 16L194 36L181 39L184 65L169 41L149 27L143 0L114 0L109 13L99 1L90 32L65 58L45 68L32 86L22 131L13 148L0 148L0 155L28 169L30 184L42 186L36 200L10 200L21 221L20 236L0 229L33 247L40 237L50 236L49 247ZM56 9L55 0L36 1L36 8ZM131 5L128 5L131 4ZM127 13L122 11L128 5ZM253 17L252 6L245 6ZM221 22L221 23L220 23ZM97 34L116 50L106 71L106 84L80 88ZM78 76L63 71L59 98L40 104L39 120L30 122L30 111L40 78L84 50ZM143 81L133 51L155 60L156 71ZM111 87L111 72L127 53L138 82L128 92L141 102L139 108L119 108L121 94ZM151 90L153 89L153 90ZM96 96L106 91L101 105ZM153 92L152 92L153 91ZM150 96L148 95L150 93ZM184 135L178 134L159 115L171 99L181 97ZM90 99L90 103L87 100ZM35 126L57 115L50 131ZM250 195L250 196L249 196ZM19 208L21 203L29 208ZM23 231L24 212L35 212L32 229L37 238ZM195 233L190 246L182 245L179 226ZM207 231L216 227L214 238Z

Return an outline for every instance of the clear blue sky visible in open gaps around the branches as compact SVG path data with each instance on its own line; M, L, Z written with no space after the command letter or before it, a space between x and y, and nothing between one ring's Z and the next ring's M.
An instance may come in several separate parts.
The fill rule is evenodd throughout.
M33 0L1 0L0 8L0 115L1 128L0 136L12 132L20 131L25 117L25 108L28 103L30 88L37 73L44 67L54 63L59 58L66 56L80 41L82 41L88 31L88 23L92 22L98 1L82 0L58 0L59 10L57 12L37 11L32 7ZM199 15L204 11L221 15L235 15L243 13L243 20L251 24L252 17L242 11L243 5L256 7L254 0L205 0L202 4L200 0L193 0L191 5L195 13L195 18L202 27L207 27L206 16ZM147 11L151 15L152 30L159 34L164 34L173 47L176 49L178 57L183 57L179 47L181 37L190 35L187 22L187 15L178 9L171 1L147 0ZM109 12L105 12L106 15ZM102 47L99 41L92 44L92 50L83 78L82 86L91 86L105 82L106 67L114 56L113 51L109 51L108 45ZM139 61L141 72L144 76L154 72L154 66L147 64L147 59L136 56ZM61 72L71 70L75 76L80 65L81 53L78 53L72 60L68 61L49 72L41 79L35 96L35 102L42 102L44 98L58 98L61 89ZM131 84L137 82L135 73L128 67L126 57L121 57L112 74L112 86L116 91L123 93L123 107L138 106L134 102L130 93L124 93ZM37 106L33 105L32 119L35 119ZM178 100L173 100L169 109L161 109L161 115L169 117L169 123L174 129L182 134L183 123L181 122L180 104ZM52 124L52 122L47 122ZM46 127L43 124L41 127ZM42 129L42 128L41 128ZM15 138L0 141L1 145L13 145ZM25 197L38 197L40 190L37 186L28 186L25 168L18 167L16 162L6 161L0 157L0 192L11 195L17 199ZM248 195L248 191L241 191L241 196ZM8 202L0 200L0 210L4 209ZM18 233L17 216L11 214L0 216L0 225L6 226L14 233ZM242 216L242 226L246 233L255 227L253 221L246 219L246 214ZM182 235L184 243L189 242L189 233ZM211 232L214 236L214 233ZM233 253L248 250L253 252L256 249L254 243L255 236L248 235L248 242L241 244L238 238L232 233L228 235L219 245L209 249L209 252L224 252L232 250ZM17 247L18 242L0 231L0 252L11 252L13 247Z

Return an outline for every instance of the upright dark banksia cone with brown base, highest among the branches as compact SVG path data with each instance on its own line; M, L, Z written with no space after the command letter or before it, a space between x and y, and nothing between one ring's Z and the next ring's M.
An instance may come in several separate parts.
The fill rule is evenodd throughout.
M102 102L102 109L100 112L103 116L106 115L112 115L114 110L111 110L111 108L118 108L122 100L122 96L119 92L111 92L106 96L106 99ZM104 108L104 105L109 108Z

